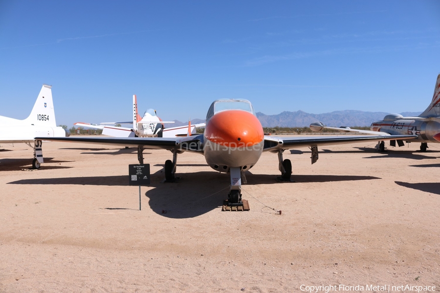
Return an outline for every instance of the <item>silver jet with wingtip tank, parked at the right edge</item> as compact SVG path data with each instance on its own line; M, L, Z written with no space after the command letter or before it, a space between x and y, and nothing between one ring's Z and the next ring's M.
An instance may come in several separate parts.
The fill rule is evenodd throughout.
M407 139L407 142L419 142L420 150L426 151L428 143L440 142L440 74L437 76L436 86L431 104L417 117L403 117L400 114L388 114L381 121L373 122L369 130L351 129L349 127L328 127L321 122L310 125L313 131L321 131L323 128L343 132L357 132L376 135L417 135L416 138ZM398 139L397 145L404 146L404 140ZM390 141L391 146L396 146L396 140ZM379 151L385 150L383 141L378 145Z

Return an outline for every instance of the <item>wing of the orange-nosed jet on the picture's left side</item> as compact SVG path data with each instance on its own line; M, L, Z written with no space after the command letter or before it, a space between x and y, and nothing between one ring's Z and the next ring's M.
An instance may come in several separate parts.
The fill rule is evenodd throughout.
M37 137L35 139L67 143L143 147L171 151L203 152L203 134L186 137Z

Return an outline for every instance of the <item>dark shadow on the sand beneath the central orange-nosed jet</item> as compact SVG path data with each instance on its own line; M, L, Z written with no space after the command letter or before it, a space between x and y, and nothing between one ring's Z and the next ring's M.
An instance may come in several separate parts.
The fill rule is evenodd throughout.
M162 183L163 173L159 170L151 175L150 190L145 192L148 205L157 214L164 217L183 219L193 218L213 209L220 209L227 199L230 176L216 171L177 173L180 177L175 183ZM277 175L252 174L246 172L247 185L277 184ZM373 176L337 176L337 175L293 175L296 182L330 182L380 179ZM22 185L93 185L93 186L129 186L128 175L91 176L66 178L22 179L7 184ZM280 183L281 184L281 183ZM123 209L123 208L105 208Z

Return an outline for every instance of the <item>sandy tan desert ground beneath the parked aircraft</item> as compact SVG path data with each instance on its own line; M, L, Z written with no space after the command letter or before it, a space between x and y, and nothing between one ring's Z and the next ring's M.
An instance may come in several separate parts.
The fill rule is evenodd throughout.
M242 186L250 211L221 211L229 174L199 154L161 183L172 155L145 150L139 210L134 148L45 142L31 171L31 148L1 145L0 292L439 291L440 144L428 146L326 146L314 165L308 148L286 150L284 183L264 153Z

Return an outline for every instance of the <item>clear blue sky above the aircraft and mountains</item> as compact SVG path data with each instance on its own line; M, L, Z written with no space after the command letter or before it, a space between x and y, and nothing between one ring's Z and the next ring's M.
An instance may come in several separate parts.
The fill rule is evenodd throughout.
M440 1L0 0L0 115L51 84L57 124L164 120L219 98L256 111L422 111L440 73Z

